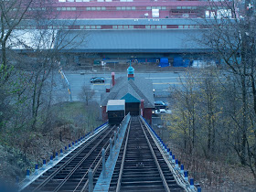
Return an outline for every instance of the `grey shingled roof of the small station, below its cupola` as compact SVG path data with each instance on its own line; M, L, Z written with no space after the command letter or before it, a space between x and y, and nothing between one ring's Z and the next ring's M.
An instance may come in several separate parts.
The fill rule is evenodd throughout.
M144 108L155 107L152 80L145 80L141 77L128 80L127 77L120 77L115 81L110 92L101 94L102 106L106 106L109 100L122 100L129 95L137 101L144 100Z

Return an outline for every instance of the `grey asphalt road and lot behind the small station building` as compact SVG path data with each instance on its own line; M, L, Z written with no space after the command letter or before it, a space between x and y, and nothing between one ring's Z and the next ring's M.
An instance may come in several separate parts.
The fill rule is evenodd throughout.
M107 67L95 67L87 69L63 69L67 80L69 80L70 92L69 94L67 88L67 83L64 79L61 79L60 75L56 76L59 81L56 87L55 96L56 102L59 101L80 101L80 91L83 86L87 86L94 91L92 100L97 101L101 104L101 93L106 91L106 88L110 88L112 84L112 72L115 72L115 78L127 77L127 68L129 64L126 65L108 65ZM174 68L165 67L160 68L156 64L133 64L134 68L134 78L137 76L144 77L147 80L152 80L153 88L155 90L155 101L165 101L170 103L170 91L176 87L180 86L179 78L182 78L186 68ZM90 79L92 77L104 77L106 79L105 83L91 83ZM153 124L161 124L161 118L159 115L154 115Z

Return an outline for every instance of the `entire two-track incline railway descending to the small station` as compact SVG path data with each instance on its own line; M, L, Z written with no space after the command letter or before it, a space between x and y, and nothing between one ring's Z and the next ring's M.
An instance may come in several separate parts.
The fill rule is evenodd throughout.
M67 151L20 191L200 191L141 116L105 124Z

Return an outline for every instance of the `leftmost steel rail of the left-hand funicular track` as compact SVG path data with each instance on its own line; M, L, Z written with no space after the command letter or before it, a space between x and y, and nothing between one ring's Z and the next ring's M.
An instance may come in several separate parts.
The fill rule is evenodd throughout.
M110 126L110 125L108 125ZM113 126L114 127L114 126ZM80 153L82 151L85 150L86 147L88 147L90 144L92 144L98 137L101 136L101 134L105 133L108 129L105 129L102 133L96 135L95 137L93 137L91 139L91 141L89 141L89 143L85 144L82 148L80 148L80 150L75 154L75 155L72 155L63 165L60 165L58 169L56 169L51 175L48 176L48 178L46 178L42 183L40 183L36 188L32 189L32 191L39 191L40 188L42 187L45 187L48 182L54 177L56 176L59 171L61 171L64 167L66 167L67 165L69 165L69 163L74 160L78 155L80 155ZM111 132L111 131L110 131ZM110 133L109 132L109 133ZM29 187L29 186L28 186Z

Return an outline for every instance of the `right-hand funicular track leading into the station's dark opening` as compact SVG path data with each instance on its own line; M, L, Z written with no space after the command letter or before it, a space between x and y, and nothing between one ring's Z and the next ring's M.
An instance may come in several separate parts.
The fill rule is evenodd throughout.
M132 117L126 135L110 191L184 191L139 117Z

